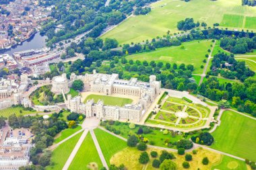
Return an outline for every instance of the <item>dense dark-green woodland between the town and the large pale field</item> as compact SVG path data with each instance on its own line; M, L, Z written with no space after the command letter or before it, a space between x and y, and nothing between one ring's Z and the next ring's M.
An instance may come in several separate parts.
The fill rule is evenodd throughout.
M53 46L55 42L73 38L78 34L90 31L87 37L96 38L108 26L117 25L130 15L135 7L143 7L147 3L156 0L143 1L121 1L111 0L108 7L104 4L106 0L46 0L40 1L40 5L55 5L51 13L53 19L57 22L48 22L42 26L41 33L46 34L49 40L47 46ZM145 13L148 9L141 9L140 14ZM149 11L148 11L149 12ZM146 13L148 13L146 12ZM146 14L145 13L145 14ZM65 30L55 32L54 26L62 24Z

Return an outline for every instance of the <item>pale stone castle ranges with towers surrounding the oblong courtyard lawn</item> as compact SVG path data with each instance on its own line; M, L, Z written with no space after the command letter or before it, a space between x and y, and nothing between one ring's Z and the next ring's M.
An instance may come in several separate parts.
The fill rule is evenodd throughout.
M123 107L104 105L103 101L90 100L82 103L81 97L71 97L67 95L65 104L71 112L86 114L87 118L96 117L99 119L111 120L129 120L139 122L143 113L146 112L149 105L155 97L160 94L161 82L156 81L156 76L150 76L150 82L137 81L132 78L129 81L119 79L119 75L100 74L94 71L93 74L76 76L71 74L70 84L76 79L81 79L86 84L87 91L102 93L104 95L129 95L139 97L139 101L133 104L127 104ZM63 95L65 98L65 96Z

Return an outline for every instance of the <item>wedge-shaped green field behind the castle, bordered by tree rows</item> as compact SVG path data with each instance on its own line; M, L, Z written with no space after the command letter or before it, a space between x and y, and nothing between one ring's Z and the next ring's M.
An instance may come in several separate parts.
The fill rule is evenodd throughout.
M186 42L182 44L185 49L182 49L181 46L158 48L153 52L127 56L127 60L147 60L148 62L155 60L170 62L171 65L173 63L176 63L177 65L181 65L181 63L184 63L185 65L191 64L195 67L195 71L193 71L193 73L201 74L203 73L203 69L201 69L200 66L205 65L205 63L203 63L203 59L205 59L205 54L209 53L207 50L211 48L211 44L212 42L210 40Z

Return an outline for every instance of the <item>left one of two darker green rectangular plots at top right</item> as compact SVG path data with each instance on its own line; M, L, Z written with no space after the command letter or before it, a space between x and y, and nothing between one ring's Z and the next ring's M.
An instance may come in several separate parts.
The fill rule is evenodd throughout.
M243 15L232 15L224 14L220 26L222 27L232 27L232 28L242 28L243 27Z

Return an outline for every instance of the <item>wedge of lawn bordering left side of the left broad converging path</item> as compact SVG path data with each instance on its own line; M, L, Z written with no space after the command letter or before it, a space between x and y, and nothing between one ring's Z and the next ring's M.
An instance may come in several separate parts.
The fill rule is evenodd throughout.
M53 155L51 157L51 164L53 165L46 167L46 170L61 170L81 135L82 132L73 136L72 138L63 142L61 145L55 148L55 150L53 151Z

